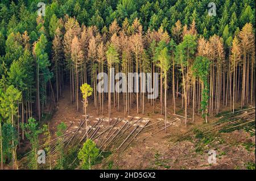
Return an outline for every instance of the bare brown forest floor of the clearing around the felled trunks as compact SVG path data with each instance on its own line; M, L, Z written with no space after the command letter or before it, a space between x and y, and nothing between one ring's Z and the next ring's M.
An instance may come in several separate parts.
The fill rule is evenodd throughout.
M51 132L56 132L59 123L64 122L69 125L73 121L71 129L79 127L82 116L82 103L80 102L80 111L77 112L76 104L71 104L69 87L65 87L62 97L57 103L57 110L49 122ZM181 110L180 98L176 100L176 113L183 115ZM105 105L104 105L105 106ZM173 106L170 99L168 100L168 121L174 120L172 115ZM239 106L238 106L239 107ZM122 106L120 106L122 110ZM152 106L146 103L144 115L137 114L136 105L130 111L130 116L143 117L154 123L159 119L164 119L160 115L160 103L156 103L155 113L152 113ZM222 111L229 110L223 107ZM88 106L89 119L95 120L99 117L108 117L108 106L104 108L104 116L94 108L93 100L89 100ZM140 112L142 110L140 109ZM188 109L188 117L191 117L192 110ZM123 111L117 111L117 107L112 108L112 118L124 118ZM101 163L94 166L94 169L251 169L255 168L255 136L240 130L231 133L215 133L205 136L205 138L185 138L185 133L191 132L205 124L200 114L195 115L195 121L192 123L188 119L188 126L184 126L184 119L178 117L174 126L164 131L148 137L146 140L136 143L133 142L121 155L114 154L110 159L106 158ZM127 119L127 118L126 118ZM209 122L217 121L218 118L210 116ZM107 124L107 123L105 123ZM152 131L154 132L154 131ZM150 136L150 132L139 135L136 140L141 140ZM208 163L208 151L215 150L217 154L216 163Z

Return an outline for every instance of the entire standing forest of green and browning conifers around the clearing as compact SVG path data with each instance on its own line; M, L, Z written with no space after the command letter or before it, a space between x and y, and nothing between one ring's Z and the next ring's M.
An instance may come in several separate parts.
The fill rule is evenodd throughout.
M46 3L46 14L43 17L38 16L39 2ZM210 2L216 3L216 16L208 15ZM79 110L79 85L87 80L91 85L96 84L94 73L112 66L106 68L105 62L109 61L109 55L115 57L114 66L135 70L137 61L137 71L138 66L140 71L146 69L146 64L152 65L156 71L165 71L165 76L168 74L170 78L165 80L168 81L166 85L171 87L172 82L172 87L175 87L177 79L180 86L177 89L180 92L185 90L192 95L198 90L197 105L200 108L200 94L204 94L201 107L203 110L209 107L210 114L213 114L215 109L217 112L214 113L220 111L218 109L221 99L225 106L230 103L230 111L232 103L234 111L234 102L240 97L242 106L252 103L255 93L254 35L254 0L0 0L1 162L12 162L15 169L15 153L20 140L28 138L35 150L38 148L38 136L43 131L38 128L39 124L35 119L28 121L29 117L33 116L37 120L45 117L47 96L55 95L54 101L57 102L65 82L71 81L70 85L73 83L73 86L70 86L71 93L73 91L71 102L76 101ZM123 45L118 47L121 40L126 42L122 42ZM208 40L209 47L212 46L208 48L213 51L205 53L204 47ZM125 47L127 42L132 44L129 51ZM132 49L136 43L141 46L140 52ZM97 50L92 48L93 45ZM217 47L219 51L216 50ZM200 48L203 49L201 52ZM93 50L94 53L90 53ZM185 51L190 51L189 55ZM74 52L82 52L83 55L80 54L79 57L74 55ZM141 54L139 63L138 53ZM84 56L84 62L81 60L79 65L79 60L74 60L76 56ZM210 65L209 60L201 56L214 63ZM122 61L118 62L118 58ZM238 63L238 59L243 61ZM201 62L205 64L201 65ZM124 65L126 63L127 65ZM173 74L168 69L163 69L162 65L165 63L168 69L173 64ZM98 65L102 65L102 69ZM78 67L81 71L76 70ZM182 74L185 74L185 78L181 76L181 68L184 69ZM195 69L200 70L199 73L203 75L197 74ZM197 74L193 75L194 77L192 70ZM197 77L198 75L201 77ZM186 85L185 79L191 84ZM215 79L220 82L218 85ZM201 82L205 87L210 83L209 90L205 88L205 92L200 93ZM192 85L194 90L189 89ZM243 87L242 90L240 87ZM167 86L164 89L167 89ZM223 92L225 90L226 93ZM173 89L173 92L175 91ZM208 96L209 91L211 96ZM101 106L101 100L96 102L96 91L93 96L96 98L94 105ZM161 113L162 97L161 92ZM192 96L189 98L192 99ZM187 109L187 102L185 108ZM187 120L187 110L185 117ZM24 126L24 123L29 124ZM33 135L29 134L31 132ZM35 160L31 168L37 168Z

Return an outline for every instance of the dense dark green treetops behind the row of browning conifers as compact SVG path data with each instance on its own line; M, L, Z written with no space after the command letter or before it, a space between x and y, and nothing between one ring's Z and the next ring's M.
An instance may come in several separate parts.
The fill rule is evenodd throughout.
M160 26L171 32L172 26L181 21L181 24L191 24L195 19L197 32L204 37L222 36L225 26L229 26L229 33L233 35L239 28L250 22L255 27L255 1L228 0L228 1L134 1L134 0L67 0L67 1L1 1L1 55L5 54L5 39L11 32L23 33L25 30L34 35L31 41L36 40L39 27L36 27L36 11L38 2L46 3L44 27L49 35L49 23L52 15L63 18L64 15L75 16L80 24L97 26L104 32L117 19L119 26L127 18L133 23L138 18L143 31L158 30ZM216 3L216 16L208 16L208 3Z

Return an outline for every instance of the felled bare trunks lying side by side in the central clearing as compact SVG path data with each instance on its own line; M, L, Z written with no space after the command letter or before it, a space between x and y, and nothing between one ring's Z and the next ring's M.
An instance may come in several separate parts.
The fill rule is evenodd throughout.
M48 142L50 144L48 153L51 153L51 158L57 156L55 154L60 141L65 149L75 146L81 148L88 138L96 143L98 149L100 149L100 154L107 150L113 154L121 154L131 144L137 144L165 130L164 120L162 119L154 123L150 123L149 119L142 119L141 117L130 117L129 120L120 118L110 121L104 118L100 118L97 121L92 121L90 118L86 120L87 124L85 124L85 119L80 120L78 127L75 127L75 129L72 127L73 122L71 122L62 136ZM177 120L168 122L167 128L174 125L175 121ZM46 144L41 145L40 149L44 149L45 146ZM46 159L49 159L49 155L47 155Z

